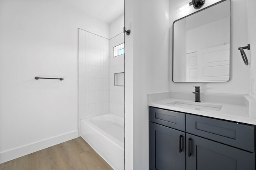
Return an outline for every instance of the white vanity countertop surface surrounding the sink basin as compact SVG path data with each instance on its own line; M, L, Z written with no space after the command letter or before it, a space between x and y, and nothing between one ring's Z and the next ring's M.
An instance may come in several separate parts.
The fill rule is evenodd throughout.
M172 104L168 104L175 101L194 102L194 100L169 98L169 99L164 99L159 101L149 101L148 106L168 109L172 111L179 111L184 113L191 113L194 115L201 115L201 116L212 117L217 119L224 119L228 121L234 121L237 123L247 123L251 125L256 125L256 119L250 118L248 109L246 108L245 105L237 105L237 104L229 104L229 103L213 103L213 102L209 103L209 102L201 101L201 103L222 105L222 108L220 111L212 111L212 110L200 111L200 110L196 110L189 107L175 106Z

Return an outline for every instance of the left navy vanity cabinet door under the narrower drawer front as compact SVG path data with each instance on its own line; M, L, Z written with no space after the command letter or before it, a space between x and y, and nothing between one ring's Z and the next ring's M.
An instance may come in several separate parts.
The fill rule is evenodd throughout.
M185 133L149 123L150 170L185 170Z

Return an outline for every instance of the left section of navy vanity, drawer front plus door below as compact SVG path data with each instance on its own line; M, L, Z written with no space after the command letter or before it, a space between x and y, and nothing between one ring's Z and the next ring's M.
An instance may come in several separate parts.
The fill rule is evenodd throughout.
M170 128L185 129L185 115L150 107L149 117L149 169L185 170L185 132Z

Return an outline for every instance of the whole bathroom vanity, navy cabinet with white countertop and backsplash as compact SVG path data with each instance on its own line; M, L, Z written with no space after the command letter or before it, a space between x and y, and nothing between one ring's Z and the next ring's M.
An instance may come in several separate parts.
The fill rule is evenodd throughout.
M192 93L148 94L150 169L254 170L255 99L201 97L198 103Z

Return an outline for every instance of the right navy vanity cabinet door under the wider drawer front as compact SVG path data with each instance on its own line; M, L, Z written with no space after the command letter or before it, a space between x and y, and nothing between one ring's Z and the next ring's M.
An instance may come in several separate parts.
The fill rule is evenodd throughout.
M255 170L255 155L186 134L187 170Z

